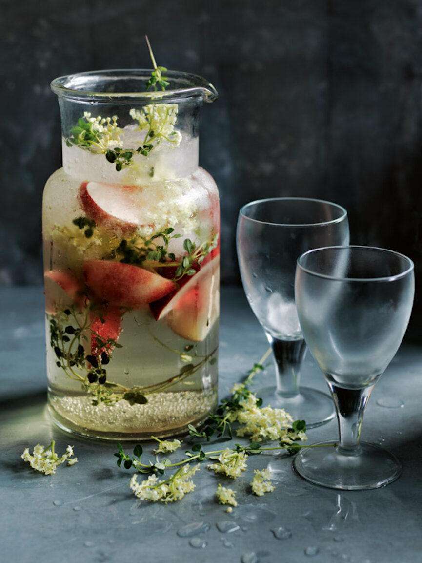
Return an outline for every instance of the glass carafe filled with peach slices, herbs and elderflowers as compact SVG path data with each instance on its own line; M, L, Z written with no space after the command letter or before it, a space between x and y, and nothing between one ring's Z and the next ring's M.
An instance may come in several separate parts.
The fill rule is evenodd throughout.
M203 78L60 77L63 167L43 197L48 408L64 430L163 437L217 404L219 200L198 167Z

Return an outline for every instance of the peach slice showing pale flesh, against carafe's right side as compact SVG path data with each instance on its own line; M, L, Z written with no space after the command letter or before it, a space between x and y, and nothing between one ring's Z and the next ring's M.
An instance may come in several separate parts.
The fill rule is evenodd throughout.
M169 327L187 340L201 342L219 314L219 255L201 267L160 312Z

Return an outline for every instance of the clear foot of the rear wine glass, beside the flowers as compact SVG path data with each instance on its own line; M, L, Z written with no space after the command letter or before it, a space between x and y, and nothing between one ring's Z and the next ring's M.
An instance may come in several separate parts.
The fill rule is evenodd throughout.
M285 409L293 420L304 420L307 429L322 426L335 417L333 399L316 389L299 387L299 394L293 397L280 395L276 387L262 387L254 393L262 399L262 406Z

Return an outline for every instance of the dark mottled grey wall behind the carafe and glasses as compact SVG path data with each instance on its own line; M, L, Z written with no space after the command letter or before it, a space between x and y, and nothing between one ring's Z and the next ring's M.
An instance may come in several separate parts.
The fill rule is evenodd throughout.
M352 243L422 274L422 0L0 0L0 284L42 283L41 198L61 164L58 75L159 64L204 75L200 162L221 190L223 283L252 199L329 199ZM416 292L410 333L422 334Z

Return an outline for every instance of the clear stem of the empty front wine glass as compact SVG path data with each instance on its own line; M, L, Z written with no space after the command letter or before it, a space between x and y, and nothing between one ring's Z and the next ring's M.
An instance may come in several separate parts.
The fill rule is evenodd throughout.
M333 395L339 423L340 442L338 451L344 455L360 452L360 435L363 412L375 385L362 389L345 389L328 383Z

